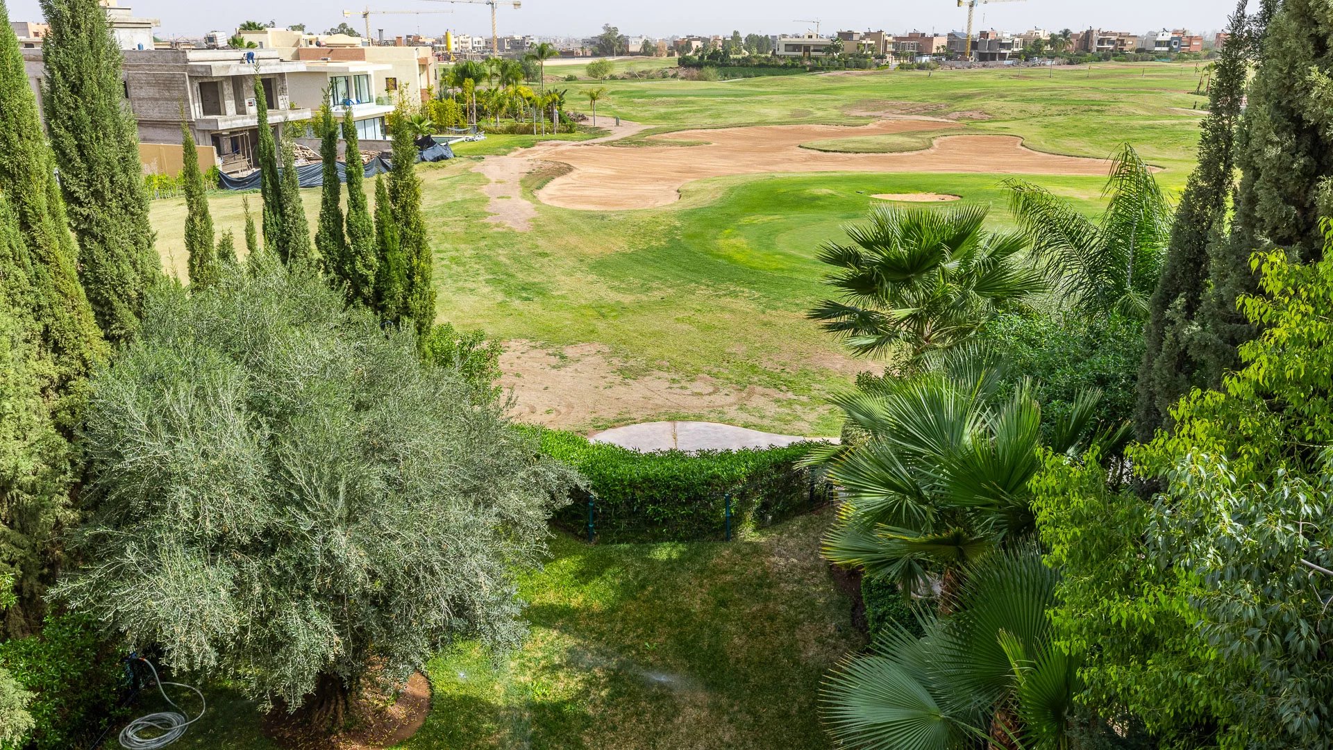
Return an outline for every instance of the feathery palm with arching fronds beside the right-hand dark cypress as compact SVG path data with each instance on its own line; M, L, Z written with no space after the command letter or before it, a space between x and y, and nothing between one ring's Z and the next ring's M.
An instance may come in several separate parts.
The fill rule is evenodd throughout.
M1104 191L1110 198L1098 222L1045 188L1006 180L1009 207L1056 290L1088 315L1112 311L1144 318L1157 287L1172 206L1152 168L1125 144Z

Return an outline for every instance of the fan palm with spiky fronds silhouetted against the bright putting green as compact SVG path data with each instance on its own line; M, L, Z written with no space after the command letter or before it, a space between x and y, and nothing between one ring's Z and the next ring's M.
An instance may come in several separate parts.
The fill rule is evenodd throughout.
M841 299L821 302L809 316L862 356L898 346L920 356L962 342L1002 306L1046 288L1021 260L1028 240L982 231L986 212L876 208L868 226L846 227L853 244L820 250L818 259L837 268L825 283Z

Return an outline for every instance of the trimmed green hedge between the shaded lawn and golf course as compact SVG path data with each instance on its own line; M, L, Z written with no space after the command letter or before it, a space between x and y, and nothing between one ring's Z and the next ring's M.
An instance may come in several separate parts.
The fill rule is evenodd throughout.
M587 480L556 520L587 534L595 502L599 542L725 539L726 498L732 534L762 528L828 499L822 476L796 463L809 443L744 451L637 452L581 435L535 430L541 452L568 463Z

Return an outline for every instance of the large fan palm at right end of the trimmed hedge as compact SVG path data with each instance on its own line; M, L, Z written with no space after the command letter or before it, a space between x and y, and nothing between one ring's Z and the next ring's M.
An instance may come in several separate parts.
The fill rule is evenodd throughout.
M824 556L892 579L909 594L936 585L948 594L962 569L1029 538L1036 523L1028 482L1040 467L1042 430L1030 384L1000 398L1004 362L976 344L937 359L920 375L836 396L833 403L869 439L817 448L808 459L826 467L844 492ZM1078 396L1049 430L1052 450L1085 447L1100 398L1097 391ZM948 603L944 597L941 605Z

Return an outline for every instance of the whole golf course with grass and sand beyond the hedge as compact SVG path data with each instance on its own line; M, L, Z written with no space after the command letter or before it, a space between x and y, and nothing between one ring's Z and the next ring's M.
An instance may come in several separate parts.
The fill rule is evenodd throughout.
M872 206L918 204L877 196L956 196L1010 227L1008 177L1098 214L1124 143L1176 195L1206 101L1194 63L647 77L664 64L617 63L643 77L611 80L553 67L572 103L605 88L596 127L492 135L419 169L439 316L504 343L523 422L836 435L826 398L882 364L806 320L826 296L821 244ZM303 194L315 216L319 191ZM241 235L243 199L211 194L219 231ZM183 199L152 218L184 276Z

